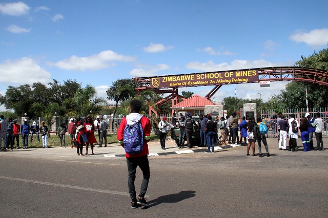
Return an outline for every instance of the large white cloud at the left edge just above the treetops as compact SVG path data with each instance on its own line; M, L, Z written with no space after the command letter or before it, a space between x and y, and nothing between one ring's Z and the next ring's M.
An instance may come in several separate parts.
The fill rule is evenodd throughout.
M32 84L41 82L46 84L49 81L50 73L42 69L32 58L23 57L0 63L0 82L2 83Z

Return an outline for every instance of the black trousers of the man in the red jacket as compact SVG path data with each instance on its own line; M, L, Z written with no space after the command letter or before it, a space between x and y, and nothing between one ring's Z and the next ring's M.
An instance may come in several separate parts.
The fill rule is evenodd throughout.
M148 157L146 155L137 158L127 158L127 164L128 164L128 175L129 175L128 187L129 187L130 198L132 201L136 199L134 181L135 181L135 172L138 166L142 171L142 175L144 176L140 187L139 197L144 198L146 195L149 178L150 178Z

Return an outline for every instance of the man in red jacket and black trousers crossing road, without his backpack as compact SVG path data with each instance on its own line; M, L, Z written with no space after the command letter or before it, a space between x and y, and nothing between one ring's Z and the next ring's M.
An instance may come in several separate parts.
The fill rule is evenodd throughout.
M128 128L128 126L135 126L138 125L138 127L142 127L143 138L141 142L143 142L142 146L140 146L138 154L131 154L129 149L127 149L129 146L125 147L126 153L125 157L127 159L127 165L128 165L128 187L129 187L129 194L131 198L131 208L137 208L137 204L149 206L149 204L146 201L145 195L148 188L149 178L150 178L150 168L149 168L149 161L147 155L149 154L148 150L148 142L150 141L150 132L151 132L151 124L147 117L142 116L139 114L140 108L142 103L134 99L130 101L130 114L123 118L117 132L117 140L121 144L122 147L125 147L124 144L124 132L125 129ZM143 179L140 187L140 192L138 195L138 200L136 199L136 191L134 186L135 181L135 174L136 174L136 168L139 166L139 168L142 171Z

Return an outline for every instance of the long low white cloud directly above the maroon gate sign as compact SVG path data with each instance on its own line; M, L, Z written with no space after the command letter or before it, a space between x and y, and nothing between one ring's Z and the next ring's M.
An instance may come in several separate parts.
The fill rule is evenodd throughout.
M266 60L233 60L231 64L216 64L213 62L213 60L209 60L206 63L194 61L186 64L186 68L200 72L226 71L261 67L273 67L273 64Z

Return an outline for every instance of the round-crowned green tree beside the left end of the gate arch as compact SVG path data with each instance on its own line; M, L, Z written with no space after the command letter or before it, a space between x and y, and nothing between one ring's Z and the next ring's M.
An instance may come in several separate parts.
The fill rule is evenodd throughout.
M114 116L118 102L128 100L136 96L138 84L135 79L118 79L113 81L112 86L106 91L107 99L115 101Z

